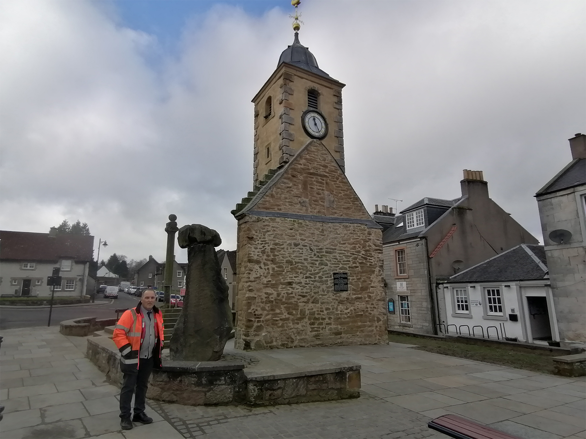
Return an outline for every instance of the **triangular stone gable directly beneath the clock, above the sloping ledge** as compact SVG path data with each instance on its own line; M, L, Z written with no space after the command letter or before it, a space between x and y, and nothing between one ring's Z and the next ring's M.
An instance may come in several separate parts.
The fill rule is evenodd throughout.
M370 219L345 174L318 140L295 157L254 210Z

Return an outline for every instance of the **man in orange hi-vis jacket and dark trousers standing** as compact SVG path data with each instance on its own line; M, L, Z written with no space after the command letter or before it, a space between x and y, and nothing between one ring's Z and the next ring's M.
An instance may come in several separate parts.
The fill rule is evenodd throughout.
M130 430L132 422L150 424L145 414L148 379L152 369L161 369L163 345L163 314L155 306L154 290L142 291L136 308L124 311L114 329L112 339L120 351L120 369L124 383L120 391L120 426ZM130 418L130 403L134 397L134 416Z

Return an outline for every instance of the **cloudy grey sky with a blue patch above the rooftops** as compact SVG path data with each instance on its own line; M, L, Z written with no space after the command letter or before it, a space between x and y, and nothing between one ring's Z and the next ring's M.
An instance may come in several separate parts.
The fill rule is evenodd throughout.
M462 169L542 239L533 195L586 132L583 1L304 1L300 39L347 84L364 204L460 195ZM0 3L0 227L90 225L162 260L170 213L236 248L253 104L293 35L284 1ZM185 252L177 251L179 262Z

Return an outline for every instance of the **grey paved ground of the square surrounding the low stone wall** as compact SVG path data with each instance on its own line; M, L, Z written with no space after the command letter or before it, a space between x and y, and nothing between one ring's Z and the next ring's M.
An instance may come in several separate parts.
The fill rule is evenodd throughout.
M274 407L148 401L154 423L120 430L118 387L59 328L2 331L2 438L445 438L427 422L458 414L522 438L585 438L586 382L417 351L410 345L242 352L251 368L362 365L359 399ZM16 373L15 373L16 372Z

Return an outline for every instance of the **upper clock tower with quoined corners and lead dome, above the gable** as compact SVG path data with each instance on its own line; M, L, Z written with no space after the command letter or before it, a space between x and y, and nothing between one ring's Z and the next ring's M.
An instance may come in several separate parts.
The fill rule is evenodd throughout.
M298 23L297 23L298 24ZM295 27L298 30L299 28ZM345 170L342 88L299 42L281 53L277 70L253 98L254 186L311 139L321 140Z

